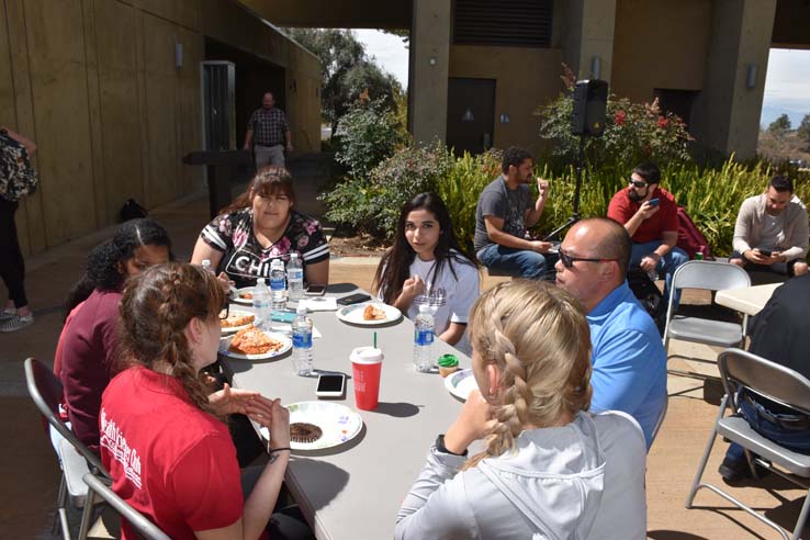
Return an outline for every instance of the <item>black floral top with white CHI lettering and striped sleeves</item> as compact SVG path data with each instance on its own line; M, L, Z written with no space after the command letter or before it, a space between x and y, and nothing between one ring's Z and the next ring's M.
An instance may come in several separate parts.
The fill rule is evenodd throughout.
M269 279L272 260L281 259L286 262L292 252L299 254L304 270L307 265L329 258L329 244L320 224L294 210L290 211L290 223L284 234L267 248L254 235L251 207L214 217L200 233L200 237L205 244L223 252L216 273L227 273L238 288L255 285L257 278Z

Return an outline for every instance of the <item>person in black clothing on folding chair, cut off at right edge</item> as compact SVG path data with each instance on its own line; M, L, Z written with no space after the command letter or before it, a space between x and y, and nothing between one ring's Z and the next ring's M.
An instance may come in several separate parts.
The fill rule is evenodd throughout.
M779 286L754 317L750 352L790 368L810 379L810 274ZM796 409L740 391L742 416L760 435L795 452L810 454L810 417ZM734 482L751 476L743 448L731 443L719 470Z

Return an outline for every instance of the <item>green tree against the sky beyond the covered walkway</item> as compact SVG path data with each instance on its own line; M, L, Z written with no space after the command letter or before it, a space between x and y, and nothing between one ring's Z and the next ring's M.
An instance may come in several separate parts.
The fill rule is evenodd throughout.
M320 111L333 133L340 117L361 97L379 100L396 112L402 86L369 58L350 30L288 29L288 33L320 60Z

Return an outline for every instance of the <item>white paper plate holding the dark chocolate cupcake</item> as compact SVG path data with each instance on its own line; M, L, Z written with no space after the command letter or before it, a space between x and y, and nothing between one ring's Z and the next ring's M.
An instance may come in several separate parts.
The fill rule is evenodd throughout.
M344 445L360 432L363 420L360 415L339 403L331 402L299 402L286 405L290 409L290 425L296 423L312 424L322 430L322 436L312 442L290 441L293 450L320 450ZM269 439L266 427L261 428L261 436Z

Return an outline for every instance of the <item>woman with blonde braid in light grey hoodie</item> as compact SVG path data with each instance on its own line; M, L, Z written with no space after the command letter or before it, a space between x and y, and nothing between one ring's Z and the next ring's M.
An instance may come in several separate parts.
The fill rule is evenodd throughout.
M479 299L469 329L481 392L430 448L395 538L644 539L644 436L625 413L587 412L580 303L510 281ZM485 450L468 458L477 439Z

